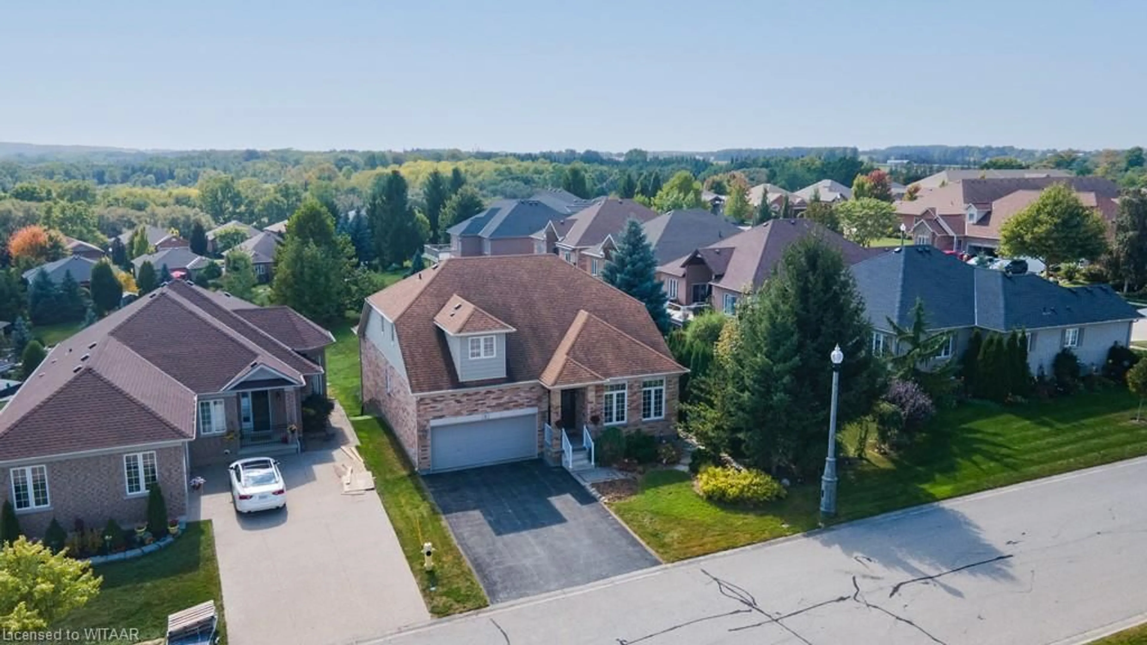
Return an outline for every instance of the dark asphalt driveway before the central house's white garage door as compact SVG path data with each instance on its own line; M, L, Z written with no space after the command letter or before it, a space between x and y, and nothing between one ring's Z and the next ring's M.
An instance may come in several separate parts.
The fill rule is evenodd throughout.
M657 565L569 473L540 460L424 480L491 603Z

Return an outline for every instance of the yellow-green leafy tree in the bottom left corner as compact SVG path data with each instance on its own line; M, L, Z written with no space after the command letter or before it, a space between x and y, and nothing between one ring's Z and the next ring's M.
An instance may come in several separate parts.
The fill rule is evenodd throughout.
M0 550L0 631L47 629L95 598L101 582L86 560L22 536Z

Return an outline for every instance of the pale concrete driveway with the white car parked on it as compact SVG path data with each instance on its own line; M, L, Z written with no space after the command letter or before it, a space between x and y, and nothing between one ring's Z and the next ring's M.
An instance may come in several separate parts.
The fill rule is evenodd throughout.
M330 445L279 457L287 507L237 515L225 467L189 516L211 520L227 642L348 643L428 620L429 613L375 491L342 495Z

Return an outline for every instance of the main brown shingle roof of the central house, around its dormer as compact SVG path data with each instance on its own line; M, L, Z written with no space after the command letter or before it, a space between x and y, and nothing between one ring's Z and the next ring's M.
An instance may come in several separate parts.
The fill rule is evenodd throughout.
M435 317L455 295L515 329L506 335L507 378L493 383L540 380L583 311L607 325L590 324L578 342L640 359L642 364L634 364L634 372L626 375L653 373L643 365L650 351L665 362L660 367L672 364L672 370L660 373L685 371L672 362L641 302L554 255L455 257L367 298L368 306L395 324L414 393L471 386L457 380L445 333L435 325ZM577 360L591 360L584 363L587 372L615 371L612 359L595 358L588 350L576 353Z

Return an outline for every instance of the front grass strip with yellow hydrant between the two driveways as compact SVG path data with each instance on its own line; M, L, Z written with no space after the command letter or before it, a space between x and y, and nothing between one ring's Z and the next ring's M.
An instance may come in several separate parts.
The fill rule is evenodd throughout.
M359 454L374 473L382 505L430 613L446 616L485 607L489 603L482 585L454 544L438 507L411 468L395 434L373 417L358 417L351 423L361 442ZM435 547L432 576L422 570L423 542L430 542ZM430 586L435 590L431 591Z

